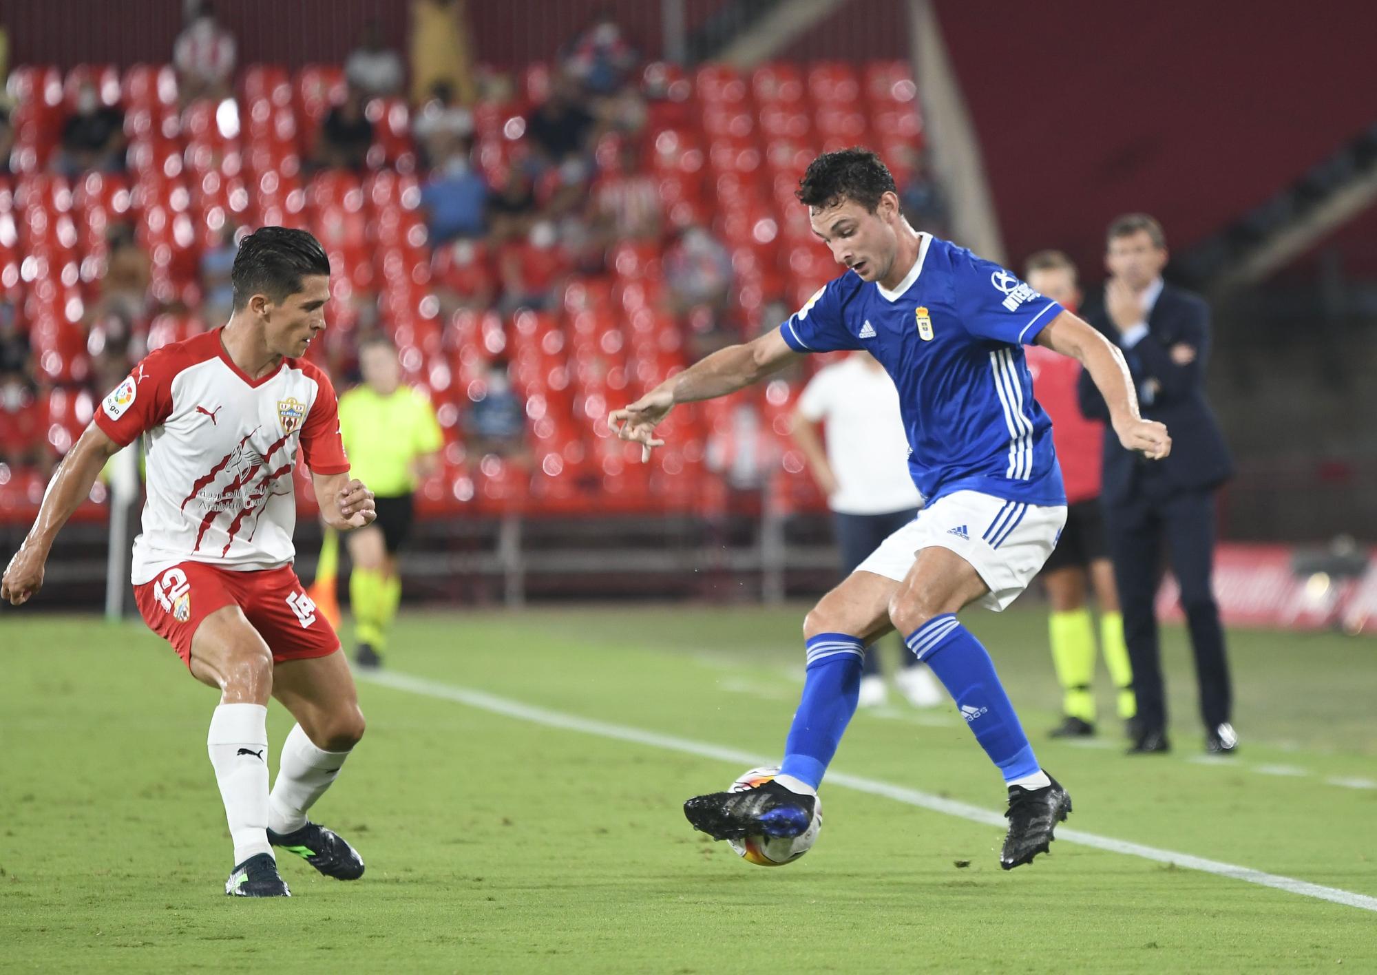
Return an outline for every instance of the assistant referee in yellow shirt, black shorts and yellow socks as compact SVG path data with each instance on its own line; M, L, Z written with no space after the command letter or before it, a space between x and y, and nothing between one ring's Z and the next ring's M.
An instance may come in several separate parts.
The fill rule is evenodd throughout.
M412 494L419 481L439 470L445 438L430 398L402 384L391 342L365 339L358 365L364 381L340 397L340 435L350 470L373 489L377 521L347 536L348 598L358 643L354 660L359 667L381 667L387 631L402 600L397 554L412 530ZM317 591L335 591L337 544L333 533L326 536Z

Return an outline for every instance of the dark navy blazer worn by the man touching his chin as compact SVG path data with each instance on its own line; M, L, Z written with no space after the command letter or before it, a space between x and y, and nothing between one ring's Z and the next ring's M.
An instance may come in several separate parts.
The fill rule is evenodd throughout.
M1085 321L1118 344L1120 333L1110 322L1103 303L1088 307ZM1209 306L1198 295L1165 285L1147 318L1148 333L1132 350L1125 350L1129 369L1140 391L1154 388L1153 402L1140 402L1143 419L1166 424L1172 435L1172 453L1159 461L1147 461L1125 450L1111 427L1104 430L1104 483L1102 497L1107 504L1124 504L1135 497L1137 475L1144 464L1161 464L1172 488L1203 490L1217 488L1232 474L1228 448L1215 413L1205 401L1205 364L1209 361ZM1181 365L1194 350L1194 359ZM1088 372L1081 373L1081 412L1092 420L1110 419L1108 406Z

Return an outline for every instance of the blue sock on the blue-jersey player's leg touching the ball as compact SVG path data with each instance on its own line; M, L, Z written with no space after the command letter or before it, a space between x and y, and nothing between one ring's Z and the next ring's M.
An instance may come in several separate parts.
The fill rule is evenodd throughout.
M865 643L847 633L818 633L807 642L807 649L803 700L785 740L779 775L792 775L817 789L856 712Z

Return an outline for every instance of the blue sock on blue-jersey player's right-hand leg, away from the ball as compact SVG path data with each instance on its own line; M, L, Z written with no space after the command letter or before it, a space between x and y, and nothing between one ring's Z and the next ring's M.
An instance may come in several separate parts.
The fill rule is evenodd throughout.
M1033 756L1033 746L1019 716L1013 713L1009 695L1000 684L994 662L980 642L961 622L945 613L932 617L905 640L924 664L932 668L938 680L956 700L975 740L1000 767L1008 784L1034 779L1030 785L1044 785L1041 766ZM807 695L807 687L804 687ZM852 698L854 706L854 698ZM803 713L801 711L799 712Z

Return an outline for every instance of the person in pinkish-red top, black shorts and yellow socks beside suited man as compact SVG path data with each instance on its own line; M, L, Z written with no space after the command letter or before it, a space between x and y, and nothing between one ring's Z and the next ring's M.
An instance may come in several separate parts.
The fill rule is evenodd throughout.
M1040 251L1030 256L1023 280L1064 308L1074 311L1081 303L1075 264L1060 251ZM1048 618L1052 664L1062 684L1062 723L1052 737L1080 738L1095 734L1095 694L1091 691L1095 679L1095 624L1085 605L1086 589L1095 591L1099 605L1100 651L1118 690L1118 715L1131 722L1137 709L1114 566L1100 515L1104 424L1081 416L1075 390L1081 376L1080 362L1030 346L1027 364L1033 373L1033 392L1052 417L1052 441L1062 464L1067 500L1066 527L1041 573L1052 603Z

